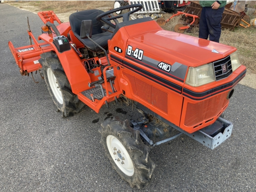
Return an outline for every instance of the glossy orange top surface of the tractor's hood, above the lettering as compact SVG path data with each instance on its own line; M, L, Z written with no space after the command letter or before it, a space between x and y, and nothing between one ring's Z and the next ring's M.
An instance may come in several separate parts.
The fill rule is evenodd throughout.
M133 36L128 45L143 50L145 57L189 67L216 61L236 51L235 47L163 29Z

